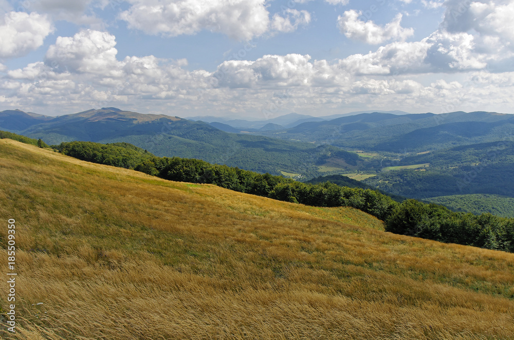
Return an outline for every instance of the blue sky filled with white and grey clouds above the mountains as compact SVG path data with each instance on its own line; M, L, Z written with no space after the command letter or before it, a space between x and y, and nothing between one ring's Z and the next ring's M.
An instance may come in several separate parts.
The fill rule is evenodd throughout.
M514 113L514 0L0 0L0 110Z

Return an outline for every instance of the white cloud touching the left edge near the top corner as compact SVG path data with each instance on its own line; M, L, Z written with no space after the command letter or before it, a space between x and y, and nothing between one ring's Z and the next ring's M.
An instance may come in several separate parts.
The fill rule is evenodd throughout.
M45 15L8 12L0 25L0 58L22 56L43 45L53 32L53 25Z

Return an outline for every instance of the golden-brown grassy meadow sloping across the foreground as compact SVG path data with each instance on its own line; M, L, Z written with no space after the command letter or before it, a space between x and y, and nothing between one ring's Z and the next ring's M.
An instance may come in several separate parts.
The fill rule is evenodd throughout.
M4 264L16 220L18 274L1 338L514 338L514 254L386 233L355 209L3 139L0 216Z

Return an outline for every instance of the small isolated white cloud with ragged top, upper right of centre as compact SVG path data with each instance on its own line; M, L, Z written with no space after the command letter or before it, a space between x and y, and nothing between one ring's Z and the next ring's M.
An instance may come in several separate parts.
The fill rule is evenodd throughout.
M362 12L355 10L345 11L338 16L337 26L347 38L362 41L368 44L381 44L388 40L406 40L414 34L412 28L403 28L400 25L401 14L386 26L378 26L373 21L364 22L359 19Z

